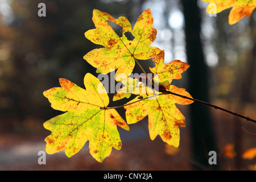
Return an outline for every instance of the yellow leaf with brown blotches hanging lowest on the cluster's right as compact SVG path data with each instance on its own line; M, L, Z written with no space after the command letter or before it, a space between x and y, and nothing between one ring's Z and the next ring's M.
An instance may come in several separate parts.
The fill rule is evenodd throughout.
M171 92L190 97L185 89L170 85ZM136 104L131 104L136 102ZM141 98L134 98L125 106L128 124L137 123L148 115L148 130L150 138L160 135L162 140L174 147L179 146L180 130L185 127L185 117L175 104L191 104L193 101L172 94L155 94ZM129 105L130 104L130 105Z

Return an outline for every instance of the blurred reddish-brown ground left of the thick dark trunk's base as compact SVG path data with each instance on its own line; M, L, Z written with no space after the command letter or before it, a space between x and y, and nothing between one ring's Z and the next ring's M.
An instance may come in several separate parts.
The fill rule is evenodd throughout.
M131 127L130 134L122 133L123 147L115 149L103 163L98 163L89 154L88 143L76 155L68 158L64 151L46 156L46 165L38 164L38 151L45 150L44 138L38 135L20 137L6 135L1 137L1 170L175 170L187 169L189 166L182 158L167 155L164 143L159 138L150 140L141 127ZM129 136L137 135L136 139ZM183 135L183 138L185 135ZM5 141L3 143L3 141ZM183 143L181 147L186 147ZM185 148L184 148L184 151ZM189 153L189 152L188 152ZM159 163L160 162L160 163Z

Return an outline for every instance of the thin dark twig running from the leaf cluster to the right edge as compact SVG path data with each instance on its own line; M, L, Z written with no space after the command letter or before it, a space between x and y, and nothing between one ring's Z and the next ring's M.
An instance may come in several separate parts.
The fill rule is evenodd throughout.
M150 79L148 78L148 76L147 76L147 73L144 71L144 69L142 68L141 64L139 64L138 60L135 59L135 57L134 57L134 60L135 60L136 63L139 65L139 67L142 69L142 71L145 73L145 75L146 75L146 77L147 77L147 80L150 80ZM151 80L150 80L150 81L151 81ZM153 83L152 81L151 81L151 84L154 86L154 83ZM183 96L183 95L180 95L180 94L177 94L177 93L168 91L168 90L164 90L164 89L161 89L161 88L159 88L159 90L164 91L165 94L168 93L168 94L172 94L172 95L179 96L179 97L182 97L182 98L186 98L186 99L191 100L191 101L194 101L194 102L196 102L196 103L203 104L203 105L207 105L207 106L210 106L210 107L214 107L214 109L222 110L222 111L225 111L226 113L230 113L230 114L236 115L236 116L238 116L238 117L241 117L241 118L243 118L243 119L246 119L247 121L251 121L251 122L256 123L256 120L254 120L254 119L251 119L251 118L249 118L249 117L246 117L246 116L244 116L244 115L242 115L242 114L235 113L235 112L230 111L230 110L228 110L228 109L224 109L224 108L222 108L222 107L219 107L219 106L210 104L209 102L200 101L200 100L197 100L197 99L194 99L194 98L190 98L190 97L187 97L187 96Z

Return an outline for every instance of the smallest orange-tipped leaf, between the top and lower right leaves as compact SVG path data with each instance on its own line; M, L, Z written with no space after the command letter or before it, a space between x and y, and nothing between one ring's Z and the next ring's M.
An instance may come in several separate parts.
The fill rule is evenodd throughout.
M139 96L152 96L158 91L164 92L164 90L170 89L170 84L173 79L180 79L181 73L185 72L189 64L180 60L171 61L168 64L164 64L164 51L162 50L157 56L154 57L155 67L150 68L152 73L155 73L154 77L127 77L122 80L122 84L125 85L121 89L117 90L117 94L114 95L113 101L120 100L122 98L129 98L131 94L137 94Z

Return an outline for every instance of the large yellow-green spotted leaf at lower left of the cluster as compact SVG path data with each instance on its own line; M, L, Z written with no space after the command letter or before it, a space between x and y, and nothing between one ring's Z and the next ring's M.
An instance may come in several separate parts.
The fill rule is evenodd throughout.
M60 78L60 85L43 93L53 109L65 112L44 123L44 127L52 131L45 139L46 152L54 154L65 149L65 154L71 157L89 140L90 154L102 162L112 147L120 150L122 143L117 125L125 130L129 130L129 126L115 109L106 109L109 97L101 82L87 73L86 90L64 78Z

